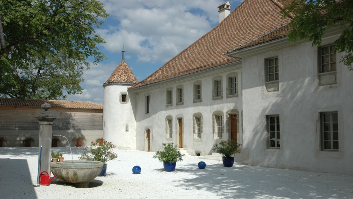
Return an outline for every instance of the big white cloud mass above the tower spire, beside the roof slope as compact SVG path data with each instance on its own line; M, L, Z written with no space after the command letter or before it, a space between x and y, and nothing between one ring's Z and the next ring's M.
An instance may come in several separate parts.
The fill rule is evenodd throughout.
M137 62L167 62L218 21L217 6L223 0L102 0L109 13L107 29L97 33L110 52L122 44L135 54Z

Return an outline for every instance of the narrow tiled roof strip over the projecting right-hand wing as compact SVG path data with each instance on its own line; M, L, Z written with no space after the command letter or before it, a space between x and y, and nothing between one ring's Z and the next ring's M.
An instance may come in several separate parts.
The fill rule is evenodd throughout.
M233 49L228 50L227 52L234 52L240 49L245 49L247 47L255 46L258 44L262 44L268 41L272 41L275 39L280 39L288 35L289 30L291 29L290 25L288 24L283 24L280 27L277 27L273 30L270 30L269 32L258 36L257 38L251 39L244 44L241 44L239 46L235 46Z

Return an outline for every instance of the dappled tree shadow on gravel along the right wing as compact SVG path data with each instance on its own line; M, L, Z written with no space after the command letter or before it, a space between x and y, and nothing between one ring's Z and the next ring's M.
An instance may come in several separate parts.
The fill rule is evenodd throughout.
M205 161L207 164L207 160ZM184 164L179 171L188 178L175 180L176 186L202 189L224 198L353 198L352 182L341 175L222 163ZM191 178L190 178L191 176ZM332 180L332 181L331 181Z

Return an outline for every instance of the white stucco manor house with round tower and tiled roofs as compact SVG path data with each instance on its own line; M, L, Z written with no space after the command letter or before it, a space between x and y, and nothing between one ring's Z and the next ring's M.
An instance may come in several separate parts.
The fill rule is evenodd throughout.
M146 79L121 81L114 71L104 84L104 138L145 151L174 142L192 155L236 139L244 164L353 174L353 73L334 52L340 29L322 46L289 42L292 18L281 8L244 0Z

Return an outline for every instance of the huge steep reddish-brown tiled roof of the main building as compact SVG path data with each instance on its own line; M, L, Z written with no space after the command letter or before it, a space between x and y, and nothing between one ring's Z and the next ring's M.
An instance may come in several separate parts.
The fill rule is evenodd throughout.
M221 23L129 89L239 61L227 50L291 21L278 0L244 0Z

